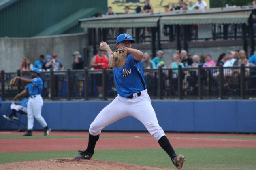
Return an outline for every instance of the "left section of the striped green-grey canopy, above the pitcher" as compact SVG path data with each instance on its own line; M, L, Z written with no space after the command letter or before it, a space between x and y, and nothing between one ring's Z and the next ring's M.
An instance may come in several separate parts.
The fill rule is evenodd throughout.
M156 27L159 17L102 17L95 20L81 20L85 28Z

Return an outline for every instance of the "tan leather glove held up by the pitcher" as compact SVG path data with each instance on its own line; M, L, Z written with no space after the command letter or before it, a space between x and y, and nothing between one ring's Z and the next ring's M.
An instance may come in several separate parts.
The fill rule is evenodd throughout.
M122 67L124 65L127 51L125 47L118 48L113 52L113 55L109 58L109 67Z

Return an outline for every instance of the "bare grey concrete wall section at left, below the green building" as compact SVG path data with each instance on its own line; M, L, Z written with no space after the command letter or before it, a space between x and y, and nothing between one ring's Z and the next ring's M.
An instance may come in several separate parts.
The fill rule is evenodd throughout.
M21 58L27 57L32 63L39 55L56 53L66 68L71 68L72 54L79 51L83 55L84 34L67 34L35 38L0 38L0 70L16 71Z

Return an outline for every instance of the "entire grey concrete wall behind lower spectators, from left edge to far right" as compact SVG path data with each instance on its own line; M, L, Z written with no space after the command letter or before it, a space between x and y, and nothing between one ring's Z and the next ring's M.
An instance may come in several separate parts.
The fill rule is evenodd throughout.
M242 49L242 46L230 46L228 42L226 44L223 44L222 42L220 46L217 44L217 46L215 45L214 47L211 47L209 42L205 42L208 43L205 47L203 47L201 42L193 43L198 45L189 47L189 54L206 55L209 53L212 55L213 60L217 60L219 55L223 52ZM85 36L83 33L35 38L0 38L0 70L5 70L7 72L16 71L20 67L22 57L28 57L32 63L34 63L34 61L38 59L39 55L52 54L53 52L58 54L58 59L63 62L65 68L71 68L73 63L73 52L78 50L81 55L83 55L84 44ZM110 47L113 50L115 49L114 45L111 45ZM148 52L151 54L150 44L134 44L133 47L141 50L142 52ZM165 52L163 59L166 63L166 67L168 67L176 49L174 46L171 46L171 48L167 48L167 46L165 46L162 50ZM85 61L88 65L90 65L90 59L92 56L91 46L89 47L89 59ZM154 56L152 56L152 58L153 57Z

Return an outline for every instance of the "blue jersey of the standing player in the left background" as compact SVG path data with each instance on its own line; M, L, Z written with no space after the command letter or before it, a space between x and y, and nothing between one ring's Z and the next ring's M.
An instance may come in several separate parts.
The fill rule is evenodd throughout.
M40 77L32 78L32 83L26 86L30 96L41 94L43 90L43 80Z

